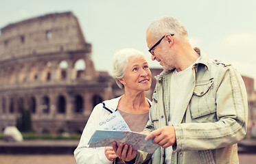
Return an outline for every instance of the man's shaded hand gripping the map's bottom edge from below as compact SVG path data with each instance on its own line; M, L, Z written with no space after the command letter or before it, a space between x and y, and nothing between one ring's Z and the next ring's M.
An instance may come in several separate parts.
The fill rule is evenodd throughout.
M113 141L113 150L115 154L124 161L132 161L137 156L137 151L132 149L132 146L128 146L127 144L120 143L117 146L117 142Z

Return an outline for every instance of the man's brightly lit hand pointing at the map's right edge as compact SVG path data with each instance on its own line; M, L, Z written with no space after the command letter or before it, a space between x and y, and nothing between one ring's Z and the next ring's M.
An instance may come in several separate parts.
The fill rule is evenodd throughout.
M173 146L176 142L176 135L174 126L163 126L161 128L152 131L145 140L153 139L153 143L159 144L162 148Z

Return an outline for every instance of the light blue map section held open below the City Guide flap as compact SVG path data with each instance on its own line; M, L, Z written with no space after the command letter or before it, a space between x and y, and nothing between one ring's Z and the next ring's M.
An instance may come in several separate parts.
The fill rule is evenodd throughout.
M113 141L131 145L134 150L153 153L159 145L152 139L145 141L146 135L132 131L96 130L89 141L89 148L112 146Z

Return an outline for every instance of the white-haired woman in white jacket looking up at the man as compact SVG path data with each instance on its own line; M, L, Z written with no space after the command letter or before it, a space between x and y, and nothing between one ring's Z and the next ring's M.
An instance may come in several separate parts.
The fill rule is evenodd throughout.
M82 163L124 163L115 154L112 147L88 148L88 141L96 130L95 125L101 118L118 110L131 131L141 132L148 122L150 100L145 91L150 90L151 72L143 53L135 49L122 49L115 54L113 77L125 94L118 98L106 100L96 105L84 127L78 148L75 149L75 160Z

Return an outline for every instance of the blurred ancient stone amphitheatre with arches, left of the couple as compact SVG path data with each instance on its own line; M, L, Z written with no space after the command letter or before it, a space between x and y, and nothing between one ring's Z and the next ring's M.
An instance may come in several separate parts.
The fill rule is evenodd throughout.
M0 131L15 126L22 108L35 133L81 133L93 107L121 95L95 70L72 12L13 23L0 36Z

